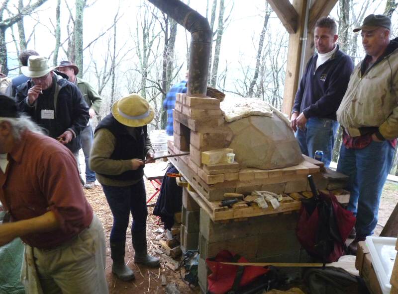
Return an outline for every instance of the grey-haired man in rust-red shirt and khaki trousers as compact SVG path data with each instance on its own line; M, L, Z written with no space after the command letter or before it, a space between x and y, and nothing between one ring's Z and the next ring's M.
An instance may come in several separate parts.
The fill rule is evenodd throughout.
M82 191L72 152L42 135L3 95L0 154L0 201L11 220L0 225L0 246L17 237L26 244L26 292L108 293L103 228Z

